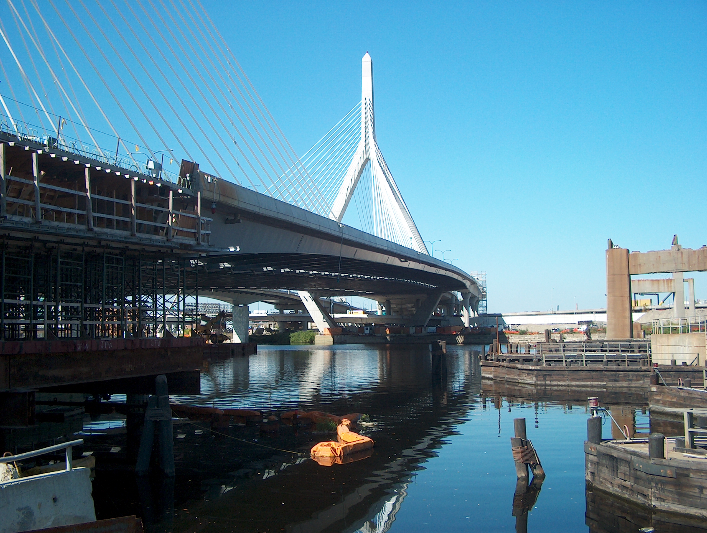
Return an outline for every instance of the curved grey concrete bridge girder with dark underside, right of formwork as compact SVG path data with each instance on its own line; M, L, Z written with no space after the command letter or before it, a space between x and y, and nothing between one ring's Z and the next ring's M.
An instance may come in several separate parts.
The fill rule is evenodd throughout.
M416 252L411 248L341 225L329 218L286 204L224 180L200 180L202 205L215 203L211 223L211 245L228 250L238 247L240 254L307 254L333 257L337 264L329 269L336 289L346 289L349 276L337 269L339 259L349 259L363 268L387 271L390 278L423 281L428 288L479 294L476 281L461 269ZM239 223L229 223L238 218ZM228 222L227 222L228 221ZM212 255L214 255L212 253ZM374 274L375 275L375 274ZM419 283L419 281L417 283ZM282 286L280 288L285 288ZM298 287L317 291L316 286ZM334 287L332 287L334 288ZM421 286L405 293L420 292Z

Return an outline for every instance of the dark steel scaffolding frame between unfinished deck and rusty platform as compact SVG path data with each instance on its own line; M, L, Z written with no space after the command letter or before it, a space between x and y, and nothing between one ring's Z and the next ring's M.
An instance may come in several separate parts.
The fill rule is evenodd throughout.
M2 340L179 336L194 320L193 259L13 240L0 252Z

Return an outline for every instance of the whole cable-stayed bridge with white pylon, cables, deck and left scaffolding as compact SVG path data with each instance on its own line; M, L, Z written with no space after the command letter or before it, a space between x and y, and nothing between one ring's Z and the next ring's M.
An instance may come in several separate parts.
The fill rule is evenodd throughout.
M320 329L334 295L469 324L485 295L426 250L378 147L368 53L361 102L300 158L199 0L1 14L4 339L178 334L187 300L285 289Z

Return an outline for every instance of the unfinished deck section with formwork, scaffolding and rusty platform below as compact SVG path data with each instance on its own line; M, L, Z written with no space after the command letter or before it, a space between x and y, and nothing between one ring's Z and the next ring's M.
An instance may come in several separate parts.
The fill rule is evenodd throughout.
M211 250L201 194L67 150L0 131L0 408L201 365L204 341L179 338Z

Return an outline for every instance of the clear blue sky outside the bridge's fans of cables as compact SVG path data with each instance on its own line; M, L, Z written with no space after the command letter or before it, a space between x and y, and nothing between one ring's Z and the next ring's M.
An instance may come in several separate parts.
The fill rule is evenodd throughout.
M423 238L487 272L491 312L604 307L607 238L707 244L706 2L204 5L299 154L360 100L370 52L382 153Z

